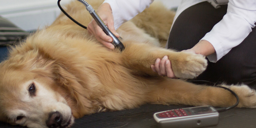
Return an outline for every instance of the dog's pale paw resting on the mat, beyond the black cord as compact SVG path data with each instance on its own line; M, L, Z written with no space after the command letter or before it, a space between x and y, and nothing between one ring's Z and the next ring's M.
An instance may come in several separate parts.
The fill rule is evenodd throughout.
M240 100L237 107L239 108L256 108L256 91L247 85L241 86L224 86L234 91Z

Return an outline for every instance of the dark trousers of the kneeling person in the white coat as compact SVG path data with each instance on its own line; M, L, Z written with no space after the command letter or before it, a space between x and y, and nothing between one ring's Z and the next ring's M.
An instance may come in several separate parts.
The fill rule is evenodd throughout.
M178 51L192 48L227 12L227 5L214 8L202 2L187 8L173 24L168 48ZM256 27L238 46L218 62L208 61L207 69L195 80L226 84L256 84Z

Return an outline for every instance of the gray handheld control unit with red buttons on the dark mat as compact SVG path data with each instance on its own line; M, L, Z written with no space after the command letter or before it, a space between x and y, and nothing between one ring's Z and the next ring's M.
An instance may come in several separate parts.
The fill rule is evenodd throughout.
M157 112L154 119L162 128L202 128L216 126L219 113L212 106L199 106Z

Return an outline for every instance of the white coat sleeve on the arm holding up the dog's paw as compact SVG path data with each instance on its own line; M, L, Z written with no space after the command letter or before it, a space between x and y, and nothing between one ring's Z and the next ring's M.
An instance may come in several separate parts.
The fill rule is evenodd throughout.
M229 0L223 19L202 38L209 41L216 51L207 58L217 62L248 36L255 22L256 0Z

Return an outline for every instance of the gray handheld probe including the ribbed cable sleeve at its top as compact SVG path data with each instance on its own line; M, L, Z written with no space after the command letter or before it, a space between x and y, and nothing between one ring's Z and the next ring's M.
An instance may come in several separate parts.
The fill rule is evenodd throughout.
M102 19L100 18L100 16L95 12L95 10L92 8L92 6L90 4L88 4L86 1L84 0L78 0L79 2L82 2L85 6L86 9L89 11L89 13L92 15L92 18L94 18L94 20L98 23L98 25L100 26L100 28L102 28L102 30L108 35L110 36L113 41L111 42L116 48L119 48L120 51L124 50L124 45L122 44L122 42L120 42L120 40L118 40L118 38L116 38L116 36L108 29L108 27L106 26L106 24L102 21Z

